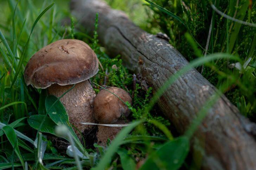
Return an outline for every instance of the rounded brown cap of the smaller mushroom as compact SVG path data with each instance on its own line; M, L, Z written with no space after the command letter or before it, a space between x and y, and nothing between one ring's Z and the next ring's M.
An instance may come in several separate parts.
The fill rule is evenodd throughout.
M119 96L124 102L132 104L132 98L129 93L118 87L110 87L108 91ZM107 90L100 91L94 98L93 114L100 123L112 124L123 115L127 117L130 114L128 107L114 94Z

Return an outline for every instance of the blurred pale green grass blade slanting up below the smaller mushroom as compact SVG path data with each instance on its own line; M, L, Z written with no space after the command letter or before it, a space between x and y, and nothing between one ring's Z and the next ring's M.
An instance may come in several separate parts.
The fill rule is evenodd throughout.
M116 136L115 140L112 141L110 144L108 150L105 152L105 155L102 157L100 162L95 168L92 168L94 170L102 170L107 167L107 165L110 163L112 156L115 154L115 152L118 150L119 146L121 145L123 138L130 133L136 127L142 123L142 121L136 121L130 124L129 126L124 127L119 134Z

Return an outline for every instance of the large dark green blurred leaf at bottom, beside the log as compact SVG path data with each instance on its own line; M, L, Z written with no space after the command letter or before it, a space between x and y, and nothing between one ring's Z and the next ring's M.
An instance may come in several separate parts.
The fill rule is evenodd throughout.
M179 137L165 143L157 151L152 153L140 170L148 169L179 169L185 161L189 151L189 140Z

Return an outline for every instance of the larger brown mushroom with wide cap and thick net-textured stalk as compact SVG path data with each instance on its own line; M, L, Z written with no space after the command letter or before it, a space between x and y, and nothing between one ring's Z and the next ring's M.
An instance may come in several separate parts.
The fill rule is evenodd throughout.
M27 85L47 88L48 94L56 97L76 84L60 102L68 112L70 123L84 132L90 127L81 122L94 122L91 104L96 94L88 79L97 72L97 55L86 43L63 39L43 47L31 57L24 71L24 79ZM79 136L78 131L75 132Z

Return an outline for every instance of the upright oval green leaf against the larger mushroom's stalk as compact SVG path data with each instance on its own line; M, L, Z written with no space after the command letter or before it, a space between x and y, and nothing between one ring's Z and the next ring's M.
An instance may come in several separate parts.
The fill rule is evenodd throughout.
M76 136L76 133L72 129L70 123L69 123L69 116L66 112L65 107L62 105L62 103L58 100L55 96L47 96L45 99L45 108L46 112L50 116L50 118L55 122L57 125L65 125L68 127L68 130L70 132L70 135L75 140L75 143L79 146L81 152L84 152L84 147L79 141L78 137ZM55 103L56 102L56 103ZM52 105L55 103L54 105ZM87 152L85 154L88 154Z

